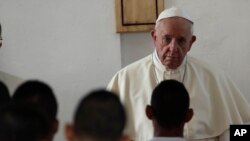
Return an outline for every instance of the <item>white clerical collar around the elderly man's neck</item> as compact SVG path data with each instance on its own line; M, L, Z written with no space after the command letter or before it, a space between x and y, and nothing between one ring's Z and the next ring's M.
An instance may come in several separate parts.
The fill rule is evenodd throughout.
M155 67L157 69L159 69L162 73L167 73L167 74L173 74L173 73L176 73L178 72L180 69L184 69L185 68L185 64L186 64L186 59L187 57L185 57L181 63L181 65L176 68L175 70L172 70L172 69L167 69L160 61L158 55L157 55L157 51L155 50L154 53L153 53L153 63L155 65Z

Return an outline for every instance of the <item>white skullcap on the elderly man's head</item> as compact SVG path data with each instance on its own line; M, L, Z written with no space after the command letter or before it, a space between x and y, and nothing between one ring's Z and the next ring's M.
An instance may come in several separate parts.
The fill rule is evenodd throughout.
M181 17L193 23L193 20L190 18L190 16L187 13L185 13L184 11L176 7L171 7L169 9L165 9L164 11L162 11L160 15L158 16L155 23L158 23L162 19L171 18L171 17Z

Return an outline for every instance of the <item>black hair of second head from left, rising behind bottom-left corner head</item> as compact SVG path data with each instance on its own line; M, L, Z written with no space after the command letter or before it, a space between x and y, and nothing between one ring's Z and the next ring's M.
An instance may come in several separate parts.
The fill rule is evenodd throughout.
M45 82L28 80L22 83L13 94L13 101L28 102L40 106L51 122L56 120L58 103L52 88Z

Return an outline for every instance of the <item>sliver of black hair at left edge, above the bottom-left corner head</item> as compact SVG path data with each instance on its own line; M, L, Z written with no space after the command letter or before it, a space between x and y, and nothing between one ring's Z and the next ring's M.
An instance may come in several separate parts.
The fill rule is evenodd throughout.
M10 102L10 93L4 82L0 81L0 108Z

